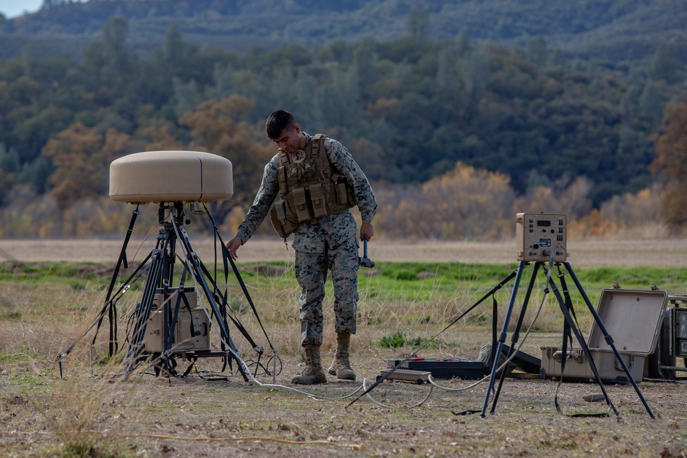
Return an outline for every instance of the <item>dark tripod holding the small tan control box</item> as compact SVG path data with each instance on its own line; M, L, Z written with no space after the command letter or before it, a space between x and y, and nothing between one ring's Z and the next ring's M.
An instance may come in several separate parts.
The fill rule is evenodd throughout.
M526 266L528 266L528 264L529 264L529 262L527 262L527 261L521 261L518 264L517 273L515 276L515 285L513 286L513 292L510 295L510 301L508 303L508 310L506 310L506 316L504 317L504 325L502 328L502 332L501 332L501 334L499 334L497 349L495 352L492 352L493 357L492 357L492 365L491 365L491 378L489 378L489 385L488 385L488 388L486 390L486 396L484 397L484 406L482 407L482 415L481 415L482 418L484 418L486 416L486 409L487 409L487 406L489 404L489 396L490 396L491 391L493 390L493 387L494 387L494 382L495 382L496 373L497 373L497 367L499 366L498 361L499 361L499 358L502 354L504 344L506 342L506 332L508 330L508 323L510 321L510 316L513 313L513 306L515 304L515 298L517 296L518 286L519 286L519 283L520 283L520 280L522 277L522 273L523 273L524 269L526 268ZM559 306L561 308L561 312L563 312L563 316L565 317L565 322L567 323L567 326L570 328L572 333L575 334L575 337L576 337L578 343L580 344L580 347L582 348L585 356L587 357L587 361L589 363L589 366L591 367L592 372L594 373L594 377L596 378L596 381L598 382L598 385L601 388L601 391L603 393L603 396L606 399L607 404L613 409L613 413L616 414L616 417L620 417L620 414L616 410L616 407L613 405L613 403L611 402L611 400L610 400L610 398L606 392L605 386L603 385L603 382L601 380L601 376L599 375L598 369L596 368L596 364L594 363L594 358L592 358L592 354L591 354L591 352L589 352L589 347L588 347L587 343L585 342L585 338L581 334L580 330L578 329L578 327L577 327L577 325L573 319L574 311L572 310L572 301L570 300L570 295L567 291L567 286L565 285L565 278L563 276L563 273L562 272L559 273L559 279L561 279L561 286L563 287L563 293L565 295L565 299L563 298L563 295L561 295L561 292L559 291L558 287L556 286L554 279L552 279L550 277L550 275L548 274L548 272L546 272L546 269L547 269L546 264L547 263L544 263L544 262L535 262L534 263L534 271L532 272L532 277L530 277L530 282L528 283L528 288L527 288L525 297L523 299L523 305L522 305L522 308L520 311L520 315L519 315L517 324L515 326L515 330L513 331L512 344L510 345L510 349L508 350L508 358L506 358L506 360L510 360L510 357L513 356L513 353L515 352L515 348L516 348L515 344L517 343L517 340L519 339L520 328L522 326L524 314L527 310L528 302L529 302L530 296L532 294L532 288L534 287L535 277L537 276L537 272L539 271L539 268L541 266L544 266L544 270L545 270L546 277L547 277L547 285L546 285L547 290L545 292L548 292L548 287L551 286L551 290L553 291L554 295L556 296L556 299L557 299ZM553 266L553 262L551 262L550 264L551 264L551 266ZM560 266L560 265L561 265L560 263L556 263L556 266ZM598 326L598 328L602 332L602 334L605 338L605 341L608 343L608 345L613 350L613 353L616 355L616 359L618 360L618 362L622 366L622 369L624 370L625 374L627 375L627 379L631 382L631 384L635 388L635 391L637 392L640 400L642 400L642 404L644 404L646 411L649 413L649 415L651 415L651 418L655 418L655 416L653 415L653 412L651 411L651 408L649 407L649 404L647 404L646 400L644 400L644 396L642 396L642 392L640 391L640 388L638 387L637 383L635 382L635 380L634 380L632 374L630 373L629 369L627 368L627 365L625 364L624 360L620 356L620 353L616 349L616 345L613 344L613 338L608 333L608 331L605 328L604 324L602 323L598 313L594 309L592 302L589 301L589 297L587 297L587 294L585 293L584 288L582 287L582 285L580 284L579 280L577 279L574 271L572 270L572 266L570 266L569 262L563 262L563 266L565 266L565 269L567 270L567 272L570 273L570 277L572 278L575 286L577 287L578 292L581 294L585 303L587 304L587 308L589 308L589 311L592 312L592 316L594 317L594 322L596 323L596 325ZM559 272L560 272L560 268L559 268ZM562 358L563 364L565 362L565 357L566 357L566 355L565 355L565 353L566 353L566 351L565 351L565 339L566 339L566 337L564 336L563 358ZM505 378L506 378L506 368L504 367L504 369L502 369L502 371L501 371L501 377L499 380L499 387L498 387L498 389L494 395L494 402L493 402L492 407L491 407L491 413L494 413L494 411L496 410L496 403L499 399L499 393L501 392L501 388L504 384ZM556 407L557 407L557 403L556 403Z

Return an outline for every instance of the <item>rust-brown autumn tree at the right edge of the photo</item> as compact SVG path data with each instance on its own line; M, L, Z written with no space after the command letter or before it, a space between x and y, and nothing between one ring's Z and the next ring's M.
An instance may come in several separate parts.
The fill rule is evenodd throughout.
M671 107L663 126L664 132L654 137L657 158L652 166L670 180L661 201L661 216L677 230L687 223L687 103Z

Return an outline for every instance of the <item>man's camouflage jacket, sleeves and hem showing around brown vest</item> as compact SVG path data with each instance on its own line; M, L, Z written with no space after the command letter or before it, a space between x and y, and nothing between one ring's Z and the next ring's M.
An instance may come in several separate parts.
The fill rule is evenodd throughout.
M310 142L312 135L306 135ZM327 157L341 175L348 177L352 185L357 206L360 210L363 222L372 222L377 209L377 201L372 193L372 187L368 179L363 174L359 165L355 162L350 152L338 141L327 137L323 143ZM265 217L269 214L269 209L279 192L278 183L278 163L279 154L264 166L262 183L253 205L248 210L248 214L243 218L239 225L236 235L243 243L253 236ZM332 237L337 243L341 244L354 238L357 234L357 225L352 217L350 209L341 211L339 214L327 215L315 221L303 222L295 231L293 239L293 249L307 251L308 253L323 253L325 236Z

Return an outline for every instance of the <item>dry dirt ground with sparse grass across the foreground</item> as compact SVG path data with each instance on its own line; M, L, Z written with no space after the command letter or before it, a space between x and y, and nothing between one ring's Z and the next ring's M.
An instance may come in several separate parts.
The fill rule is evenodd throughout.
M326 355L329 360L332 353ZM390 357L398 354L357 348L359 380L329 376L327 385L302 387L289 383L302 362L287 356L276 382L288 388L193 372L171 382L152 375L108 382L74 363L60 380L54 367L38 375L31 365L12 365L0 376L0 456L667 458L684 457L687 450L682 383L640 384L655 419L628 386L606 385L616 417L596 384L559 388L554 380L510 378L495 412L485 417L479 411L487 385L471 387L475 380L436 380L442 388L431 390L383 382L371 398L349 407L362 393L356 391L362 377L369 386ZM199 367L218 371L210 361ZM257 378L271 383L269 376ZM556 395L564 415L556 412ZM570 416L590 413L608 416ZM68 455L65 444L74 441L93 449Z

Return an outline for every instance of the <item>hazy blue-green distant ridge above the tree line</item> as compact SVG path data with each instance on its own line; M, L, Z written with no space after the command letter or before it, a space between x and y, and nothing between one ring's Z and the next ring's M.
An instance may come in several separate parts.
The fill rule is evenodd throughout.
M687 58L684 0L45 0L36 13L0 20L0 58L19 56L32 42L48 54L78 55L113 16L128 20L129 43L142 53L161 46L172 22L192 43L236 51L284 43L316 49L365 36L389 41L405 34L413 9L427 10L433 38L466 30L473 40L521 45L542 36L568 57L611 65L672 43Z

